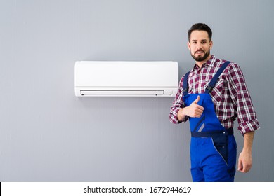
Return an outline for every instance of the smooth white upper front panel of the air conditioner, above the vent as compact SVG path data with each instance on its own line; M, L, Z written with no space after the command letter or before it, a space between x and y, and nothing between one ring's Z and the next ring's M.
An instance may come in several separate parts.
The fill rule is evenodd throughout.
M79 62L77 86L164 87L178 83L176 62ZM172 71L171 69L174 69Z

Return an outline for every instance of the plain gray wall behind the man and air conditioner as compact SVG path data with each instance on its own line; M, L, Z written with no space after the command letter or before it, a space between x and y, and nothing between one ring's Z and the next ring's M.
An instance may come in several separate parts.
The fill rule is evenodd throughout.
M235 180L274 181L273 2L1 0L0 181L191 181L173 98L74 97L74 62L173 60L181 76L195 22L241 66L261 123L252 171Z

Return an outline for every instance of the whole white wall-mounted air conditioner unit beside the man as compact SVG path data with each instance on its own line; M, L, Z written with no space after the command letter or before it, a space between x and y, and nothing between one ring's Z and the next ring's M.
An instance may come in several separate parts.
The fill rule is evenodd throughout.
M174 97L177 62L75 62L77 97Z

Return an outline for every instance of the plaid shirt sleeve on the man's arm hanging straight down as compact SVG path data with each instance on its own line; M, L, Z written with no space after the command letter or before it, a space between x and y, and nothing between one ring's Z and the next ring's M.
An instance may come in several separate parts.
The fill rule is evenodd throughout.
M244 135L247 132L258 130L259 121L252 104L242 70L237 64L230 66L229 83L230 96L237 107L238 130Z

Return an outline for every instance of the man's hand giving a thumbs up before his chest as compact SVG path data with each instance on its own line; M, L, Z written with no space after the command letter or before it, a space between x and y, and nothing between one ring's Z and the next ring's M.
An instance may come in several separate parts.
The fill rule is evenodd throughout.
M178 120L182 121L185 116L200 118L202 116L202 112L204 111L204 107L198 105L200 101L200 96L198 95L197 99L195 99L190 106L184 107L178 111Z

